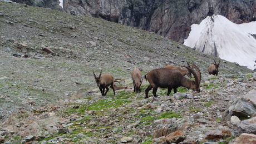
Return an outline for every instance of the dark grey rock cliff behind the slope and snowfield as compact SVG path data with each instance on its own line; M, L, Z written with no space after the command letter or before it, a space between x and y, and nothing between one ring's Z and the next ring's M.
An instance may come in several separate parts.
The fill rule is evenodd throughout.
M183 1L63 1L67 13L104 18L107 21L155 32L184 42L190 26L206 16L220 14L234 23L255 21L256 1L253 0L183 0Z

